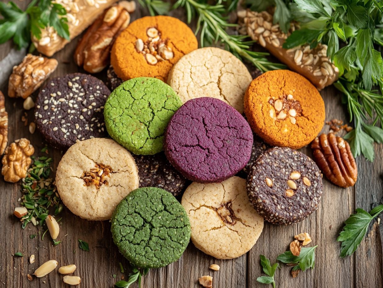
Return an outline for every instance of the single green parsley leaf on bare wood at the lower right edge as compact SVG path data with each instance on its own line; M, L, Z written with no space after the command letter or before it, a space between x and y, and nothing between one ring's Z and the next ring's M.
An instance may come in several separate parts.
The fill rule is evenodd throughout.
M342 242L340 257L350 256L355 252L366 235L370 222L382 211L383 205L376 206L370 213L358 208L355 214L344 221L345 226L337 238L337 241Z

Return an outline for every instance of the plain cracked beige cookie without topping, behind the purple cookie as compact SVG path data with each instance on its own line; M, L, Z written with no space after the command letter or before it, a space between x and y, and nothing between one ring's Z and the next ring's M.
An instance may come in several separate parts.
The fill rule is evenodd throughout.
M167 83L183 103L198 97L218 98L239 113L252 77L244 63L230 52L205 47L183 56L170 70Z

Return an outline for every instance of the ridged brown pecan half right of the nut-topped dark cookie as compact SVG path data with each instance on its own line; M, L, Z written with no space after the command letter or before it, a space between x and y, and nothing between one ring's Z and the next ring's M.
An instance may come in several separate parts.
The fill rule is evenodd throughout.
M322 134L311 143L311 149L316 164L332 183L340 187L354 186L358 170L347 141L334 133Z

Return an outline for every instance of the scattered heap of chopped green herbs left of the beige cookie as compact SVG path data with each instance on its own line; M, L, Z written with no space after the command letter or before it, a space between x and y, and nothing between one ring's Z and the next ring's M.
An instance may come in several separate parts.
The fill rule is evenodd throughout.
M46 148L42 152L47 151ZM40 156L33 159L32 167L28 169L27 176L21 184L21 205L25 206L28 214L20 220L24 229L29 222L33 225L43 226L49 214L49 208L54 208L54 215L62 211L62 204L51 174L52 158Z

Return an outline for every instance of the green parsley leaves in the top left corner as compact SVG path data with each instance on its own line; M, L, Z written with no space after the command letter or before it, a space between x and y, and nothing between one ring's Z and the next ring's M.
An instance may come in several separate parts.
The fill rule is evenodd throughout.
M65 8L51 0L32 0L25 11L15 3L0 2L0 44L13 39L18 48L28 47L31 34L41 38L41 29L51 26L57 34L69 40L68 20Z

